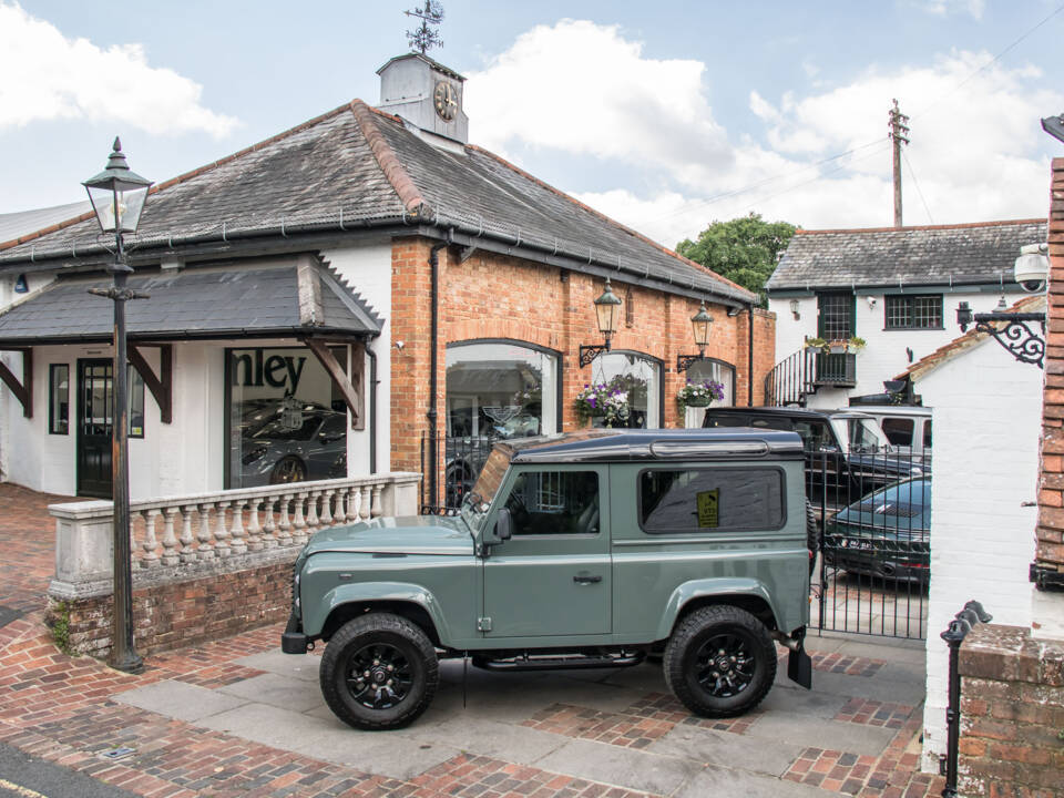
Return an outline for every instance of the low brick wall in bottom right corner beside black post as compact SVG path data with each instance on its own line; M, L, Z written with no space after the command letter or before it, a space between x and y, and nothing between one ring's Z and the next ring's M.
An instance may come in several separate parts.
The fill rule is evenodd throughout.
M960 794L1064 795L1064 644L976 625L961 648Z

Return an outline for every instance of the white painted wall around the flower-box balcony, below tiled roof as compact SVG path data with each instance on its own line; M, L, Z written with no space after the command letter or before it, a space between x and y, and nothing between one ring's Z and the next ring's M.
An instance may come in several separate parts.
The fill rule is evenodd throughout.
M898 291L887 291L897 294ZM910 289L907 293L914 294ZM934 294L934 289L920 291ZM1010 304L1016 295L1006 298ZM850 390L821 388L809 397L809 407L839 408L849 403L850 396L882 393L883 380L893 379L910 366L906 347L912 349L912 362L930 355L935 349L960 335L956 326L956 307L966 301L975 313L990 313L998 304L999 295L986 293L947 291L942 300L942 320L944 329L938 330L887 330L883 291L864 291L858 288L855 319L857 335L868 341L868 346L857 354L857 387ZM869 300L874 300L870 304ZM801 349L806 337L817 337L817 298L798 297L796 319L790 310L790 297L770 298L768 309L776 314L776 360L777 362ZM919 392L919 391L918 391ZM924 401L925 405L931 405Z

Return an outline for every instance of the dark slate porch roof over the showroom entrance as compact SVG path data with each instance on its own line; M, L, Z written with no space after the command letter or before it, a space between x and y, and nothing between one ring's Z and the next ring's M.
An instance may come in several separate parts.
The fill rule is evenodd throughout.
M255 269L196 269L132 276L127 287L147 299L126 304L131 339L243 337L347 332L376 336L381 321L324 264L313 267L320 314L313 324L300 314L298 266L291 262ZM0 313L0 341L110 341L112 304L88 294L110 279L61 279Z

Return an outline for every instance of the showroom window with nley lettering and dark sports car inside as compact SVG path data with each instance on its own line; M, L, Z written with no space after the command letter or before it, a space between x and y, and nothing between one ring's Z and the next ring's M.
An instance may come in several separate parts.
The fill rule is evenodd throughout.
M347 477L347 407L309 349L229 349L226 375L227 488Z

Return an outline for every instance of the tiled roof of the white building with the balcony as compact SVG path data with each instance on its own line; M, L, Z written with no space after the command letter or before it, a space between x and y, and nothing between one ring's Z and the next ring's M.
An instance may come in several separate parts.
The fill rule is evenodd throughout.
M1045 219L931 227L798 231L769 278L782 289L1013 283L1020 247L1046 239Z

